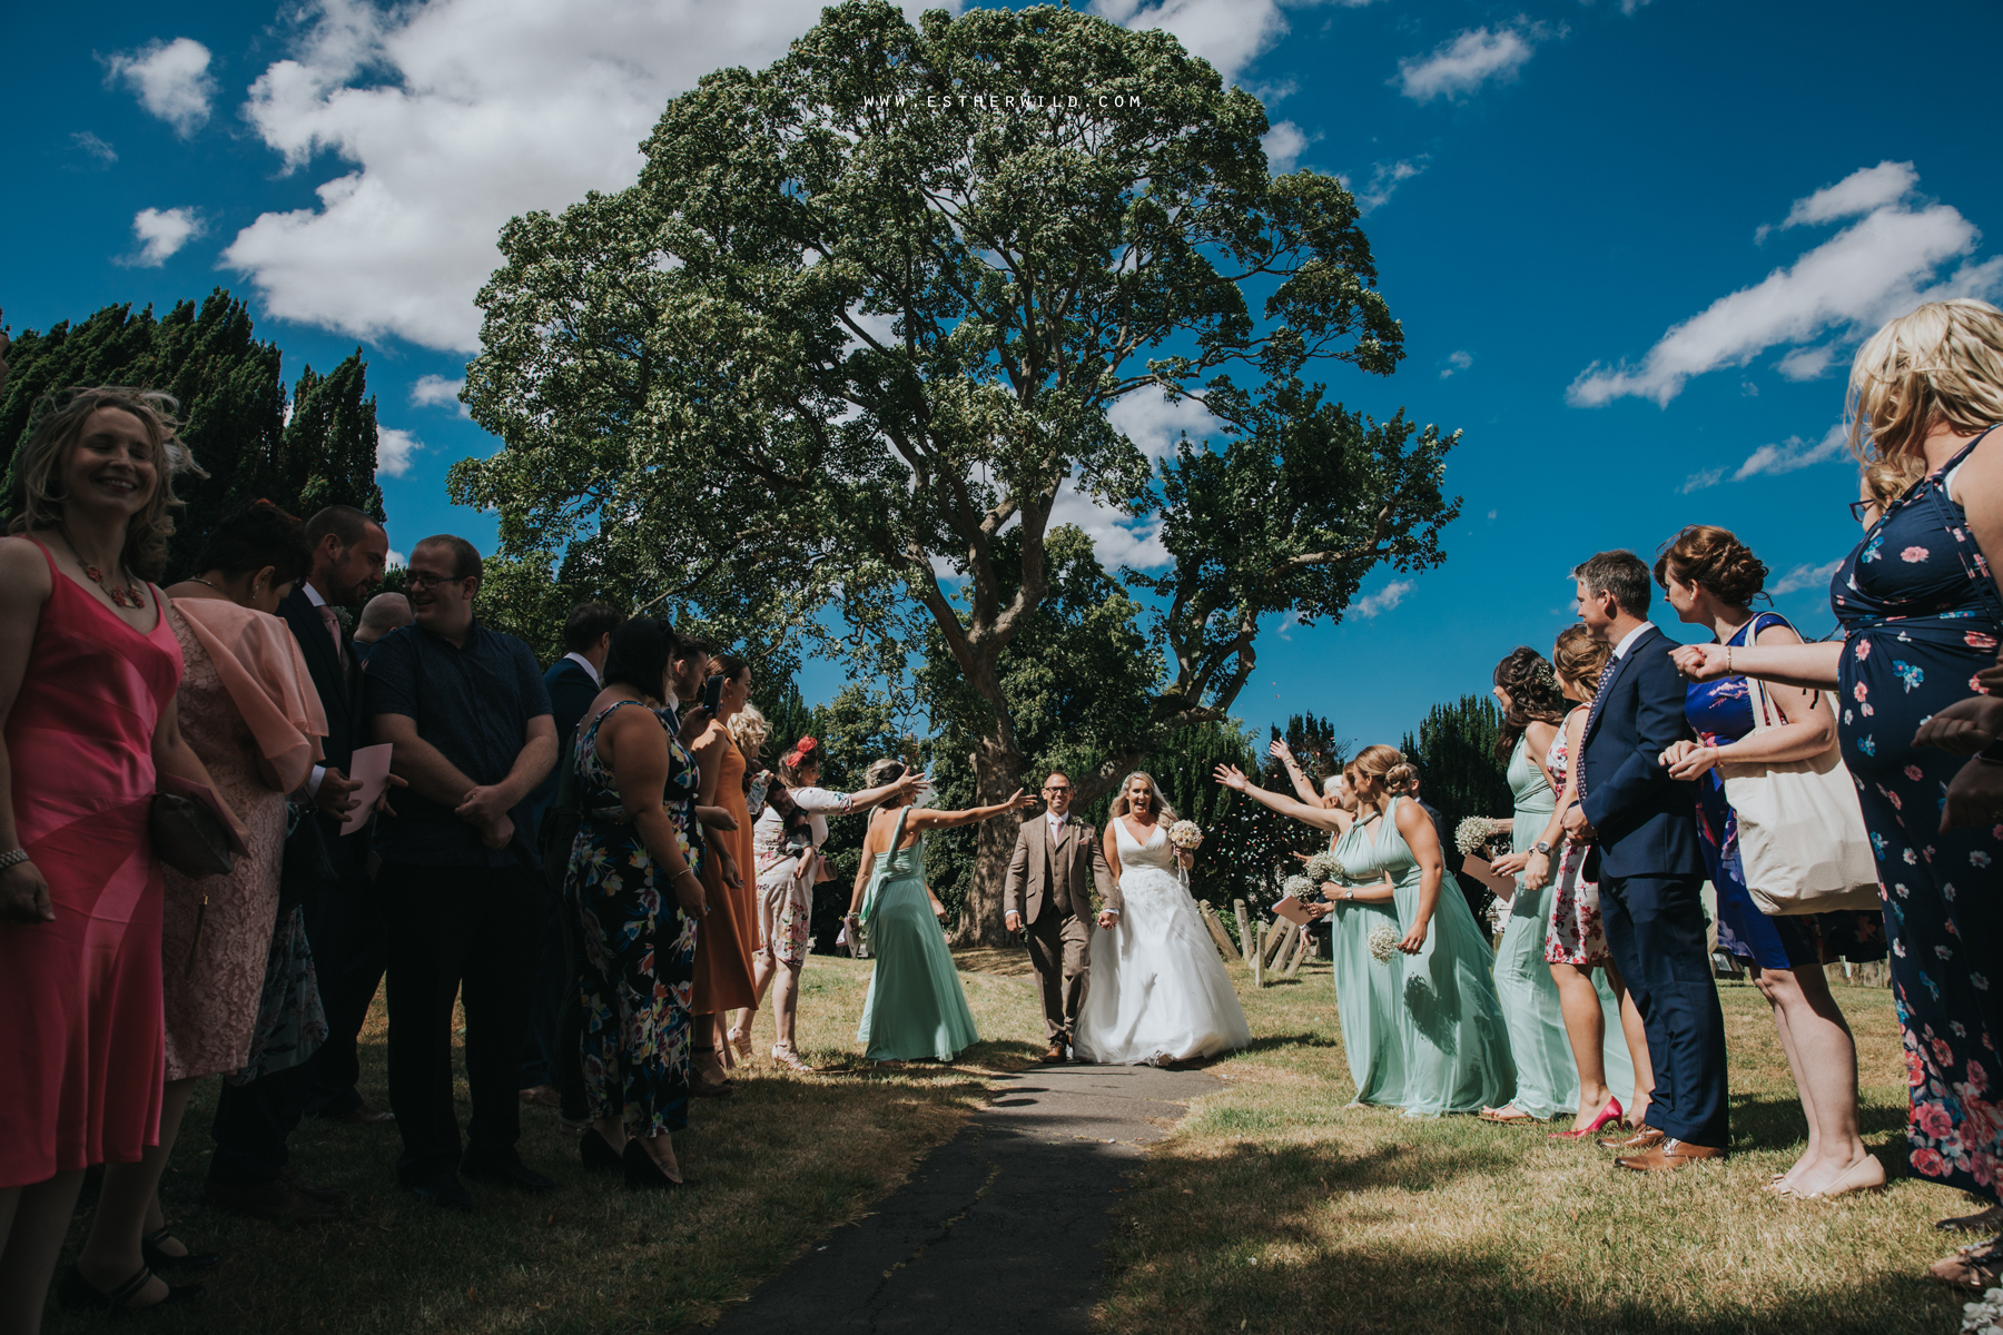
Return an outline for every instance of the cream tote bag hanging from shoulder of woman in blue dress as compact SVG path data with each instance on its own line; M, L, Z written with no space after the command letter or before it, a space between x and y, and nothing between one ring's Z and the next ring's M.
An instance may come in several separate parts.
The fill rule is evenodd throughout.
M1759 679L1745 681L1757 737L1779 727L1779 711ZM1725 801L1739 813L1739 861L1761 913L1885 907L1857 781L1835 741L1805 761L1721 765L1719 775Z

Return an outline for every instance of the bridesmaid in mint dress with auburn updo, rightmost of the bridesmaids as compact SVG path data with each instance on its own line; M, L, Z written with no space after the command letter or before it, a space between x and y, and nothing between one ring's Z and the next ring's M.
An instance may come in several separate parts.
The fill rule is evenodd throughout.
M1580 1111L1578 1067L1564 1037L1564 1007L1544 963L1552 887L1546 883L1530 889L1522 877L1524 857L1536 849L1556 809L1544 757L1564 723L1564 695L1544 654L1528 646L1510 650L1496 664L1494 695L1502 703L1496 759L1506 763L1508 787L1516 797L1510 857L1496 861L1496 871L1516 875L1516 897L1494 955L1496 997L1502 1001L1510 1057L1516 1063L1516 1095L1504 1107L1482 1109L1482 1121L1532 1123Z

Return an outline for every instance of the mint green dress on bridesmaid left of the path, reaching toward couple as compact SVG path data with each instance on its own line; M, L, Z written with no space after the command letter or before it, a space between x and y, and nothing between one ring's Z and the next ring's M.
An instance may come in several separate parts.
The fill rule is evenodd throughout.
M879 853L863 895L869 927L869 999L855 1041L871 1061L951 1061L979 1041L953 953L925 893L925 839L899 849L905 807Z

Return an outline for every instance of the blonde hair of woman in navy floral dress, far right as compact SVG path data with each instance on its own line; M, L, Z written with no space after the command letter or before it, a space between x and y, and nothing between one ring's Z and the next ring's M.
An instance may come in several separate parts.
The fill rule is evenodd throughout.
M2003 310L1957 296L1899 316L1857 350L1845 400L1861 464L1915 458L1941 424L2003 422Z

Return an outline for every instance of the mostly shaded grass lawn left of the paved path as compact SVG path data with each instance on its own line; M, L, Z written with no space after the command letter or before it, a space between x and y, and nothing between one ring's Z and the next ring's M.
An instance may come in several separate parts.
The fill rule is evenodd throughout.
M1020 953L1016 953L1020 957ZM701 1185L635 1195L617 1179L587 1177L577 1141L553 1109L523 1109L521 1153L561 1189L547 1197L473 1185L479 1213L451 1215L395 1187L393 1129L306 1123L292 1163L314 1183L347 1187L343 1223L254 1223L202 1205L214 1081L188 1109L164 1181L170 1223L196 1251L224 1253L202 1275L208 1299L150 1313L148 1331L681 1331L715 1321L811 1241L855 1219L897 1187L917 1159L979 1107L993 1073L1042 1055L1042 1009L1012 961L967 961L967 1001L983 1035L955 1067L795 1077L757 1061L727 1101L697 1101L675 1137ZM801 1045L815 1063L853 1059L867 961L813 957L801 997ZM771 1051L771 1011L755 1039ZM381 999L363 1035L363 1095L389 1103ZM739 1077L743 1071L739 1069ZM465 1081L459 1085L461 1117ZM72 1229L82 1241L90 1201ZM130 1329L128 1321L72 1317L50 1305L44 1331Z

